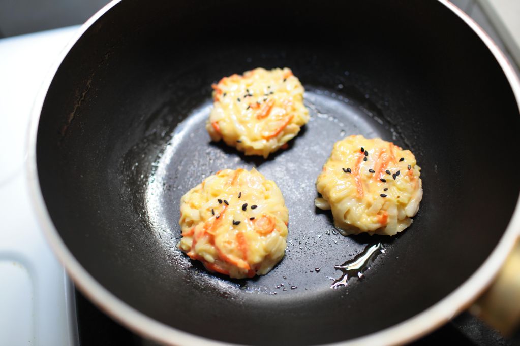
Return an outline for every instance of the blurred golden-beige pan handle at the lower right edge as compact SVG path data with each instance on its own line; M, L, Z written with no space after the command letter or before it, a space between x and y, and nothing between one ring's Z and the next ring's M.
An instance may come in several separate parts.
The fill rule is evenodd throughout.
M470 311L506 337L517 331L520 322L520 242L516 242L497 278Z

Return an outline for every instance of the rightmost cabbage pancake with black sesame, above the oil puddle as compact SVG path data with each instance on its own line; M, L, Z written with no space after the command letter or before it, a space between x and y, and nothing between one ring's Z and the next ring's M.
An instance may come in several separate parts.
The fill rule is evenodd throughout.
M322 198L341 233L393 236L411 225L422 199L421 168L392 142L349 136L334 144L318 176Z

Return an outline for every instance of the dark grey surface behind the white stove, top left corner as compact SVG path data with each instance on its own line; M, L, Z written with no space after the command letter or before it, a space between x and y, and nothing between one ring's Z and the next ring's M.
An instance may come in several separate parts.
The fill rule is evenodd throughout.
M0 37L83 24L109 0L0 0Z

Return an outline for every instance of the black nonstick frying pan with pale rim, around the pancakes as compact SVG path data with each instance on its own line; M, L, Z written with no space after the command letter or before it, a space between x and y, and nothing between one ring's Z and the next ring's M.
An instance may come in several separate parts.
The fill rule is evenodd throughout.
M266 160L204 129L212 82L258 66L292 68L311 114ZM519 90L446 1L115 1L36 101L35 208L77 287L154 340L406 342L465 309L518 237ZM343 237L314 207L322 164L350 134L409 148L422 167L420 211L398 236ZM284 259L248 280L176 248L180 197L239 167L273 179L290 211ZM365 276L332 289L334 265L377 242Z

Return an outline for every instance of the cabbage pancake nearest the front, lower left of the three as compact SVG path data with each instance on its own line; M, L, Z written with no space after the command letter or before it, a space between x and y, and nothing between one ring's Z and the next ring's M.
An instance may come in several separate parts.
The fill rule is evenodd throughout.
M223 170L180 199L178 247L210 271L252 278L282 259L288 222L273 181L255 169Z

